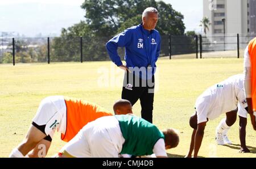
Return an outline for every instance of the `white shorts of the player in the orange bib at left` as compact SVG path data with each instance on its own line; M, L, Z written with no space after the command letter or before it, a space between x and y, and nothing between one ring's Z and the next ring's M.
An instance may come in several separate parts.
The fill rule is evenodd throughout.
M49 96L42 100L34 119L35 124L44 128L47 136L53 137L55 130L65 133L67 107L63 96Z

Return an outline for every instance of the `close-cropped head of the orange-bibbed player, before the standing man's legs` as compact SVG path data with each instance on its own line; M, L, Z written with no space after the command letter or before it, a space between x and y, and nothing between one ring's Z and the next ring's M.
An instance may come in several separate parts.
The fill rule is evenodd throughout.
M125 99L117 100L113 105L115 115L126 115L128 113L133 113L131 109L131 102Z

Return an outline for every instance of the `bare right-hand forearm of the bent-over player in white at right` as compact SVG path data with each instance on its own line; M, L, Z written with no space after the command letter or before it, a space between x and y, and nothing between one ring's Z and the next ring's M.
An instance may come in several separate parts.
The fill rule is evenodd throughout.
M195 134L195 146L194 146L194 155L196 158L199 152L203 137L204 137L204 128L206 126L207 121L201 122L197 125L196 134Z

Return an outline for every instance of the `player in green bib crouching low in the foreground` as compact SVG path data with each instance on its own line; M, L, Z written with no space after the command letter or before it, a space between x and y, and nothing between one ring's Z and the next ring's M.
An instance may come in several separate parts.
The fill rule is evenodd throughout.
M58 157L167 157L166 150L179 143L175 129L160 131L133 115L101 117L88 123L60 150Z

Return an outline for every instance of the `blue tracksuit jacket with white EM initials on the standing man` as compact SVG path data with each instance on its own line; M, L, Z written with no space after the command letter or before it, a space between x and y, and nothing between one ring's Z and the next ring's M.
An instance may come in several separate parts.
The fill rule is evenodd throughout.
M118 56L117 48L125 47L125 61L127 67L146 67L147 71L151 71L151 76L146 77L143 73L139 73L142 79L150 79L155 73L155 62L160 54L161 37L159 32L154 30L147 31L142 24L127 28L122 33L114 36L106 43L110 59L115 65L121 66L122 61ZM147 69L151 66L151 69ZM137 75L137 73L134 73Z

